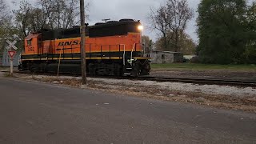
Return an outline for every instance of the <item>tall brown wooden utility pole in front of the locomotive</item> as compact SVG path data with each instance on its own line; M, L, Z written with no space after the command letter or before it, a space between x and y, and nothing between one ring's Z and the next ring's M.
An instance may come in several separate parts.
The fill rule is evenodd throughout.
M81 70L82 70L82 85L86 85L86 27L85 27L85 2L84 0L80 0L80 34L81 34L81 44L80 44L80 52L81 52Z

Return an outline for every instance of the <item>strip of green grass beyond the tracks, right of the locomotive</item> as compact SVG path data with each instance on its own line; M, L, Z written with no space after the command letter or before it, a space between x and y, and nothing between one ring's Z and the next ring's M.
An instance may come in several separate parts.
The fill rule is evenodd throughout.
M194 63L151 64L152 70L256 70L256 65L215 65Z

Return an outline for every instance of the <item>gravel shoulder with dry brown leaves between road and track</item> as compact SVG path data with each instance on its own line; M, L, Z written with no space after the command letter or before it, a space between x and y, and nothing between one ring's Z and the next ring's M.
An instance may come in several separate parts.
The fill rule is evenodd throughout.
M167 73L170 73L167 72ZM177 71L175 72L178 73ZM183 73L183 72L182 72ZM155 74L153 72L153 74ZM166 76L168 74L165 73ZM1 73L0 76L6 76ZM253 87L197 85L182 82L132 81L109 78L87 78L82 86L80 77L14 74L26 81L47 82L83 89L102 90L114 94L154 98L163 101L189 102L196 105L246 110L256 113L256 89Z

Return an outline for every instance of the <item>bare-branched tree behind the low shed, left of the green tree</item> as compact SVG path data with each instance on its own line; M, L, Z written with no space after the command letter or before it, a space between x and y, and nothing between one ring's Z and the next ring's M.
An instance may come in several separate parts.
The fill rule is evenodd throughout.
M157 10L151 9L152 27L162 33L166 50L168 46L173 46L174 51L181 49L179 39L193 16L187 0L168 0L166 6L160 6Z

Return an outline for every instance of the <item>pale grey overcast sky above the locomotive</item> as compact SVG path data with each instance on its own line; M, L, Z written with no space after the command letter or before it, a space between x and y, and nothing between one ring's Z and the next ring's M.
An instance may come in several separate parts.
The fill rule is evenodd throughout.
M186 28L186 33L190 35L194 41L197 41L196 22L198 16L196 13L200 0L187 0L190 8L194 10L194 18L189 22ZM88 1L87 1L88 2ZM150 7L158 8L164 4L166 0L89 0L89 24L93 25L95 22L101 22L103 18L110 18L111 20L119 20L122 18L132 18L141 20L142 24L147 26L150 24L147 19L150 13ZM144 35L156 39L158 35L155 31L148 29L143 30Z

